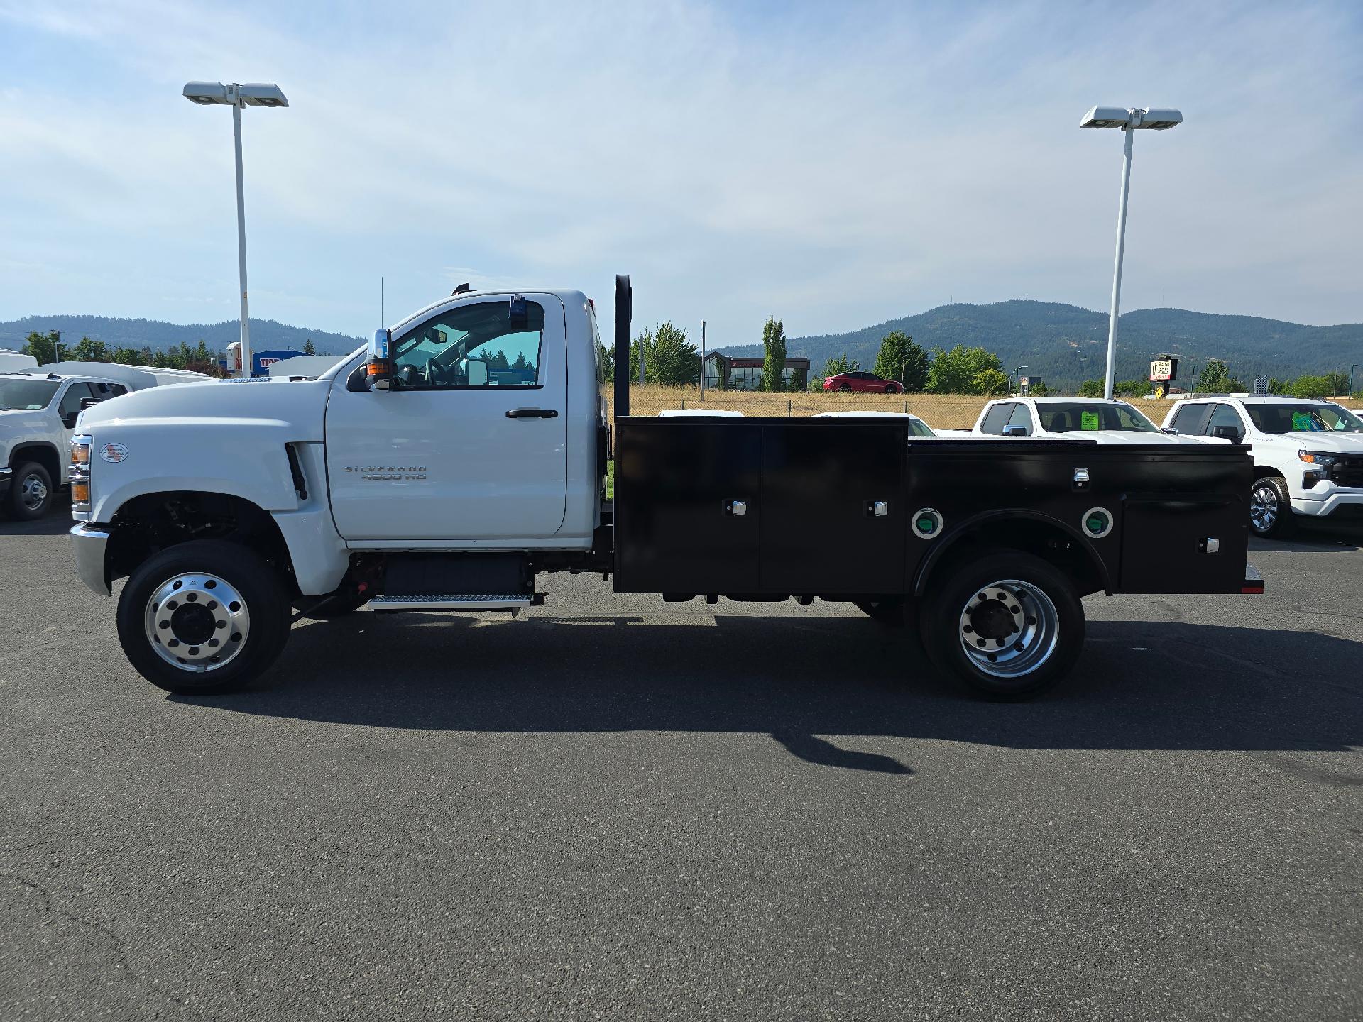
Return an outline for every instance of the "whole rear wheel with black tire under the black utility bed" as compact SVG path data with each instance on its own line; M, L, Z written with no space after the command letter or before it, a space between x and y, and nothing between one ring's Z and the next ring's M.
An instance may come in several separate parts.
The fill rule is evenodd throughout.
M1029 553L991 551L942 571L942 583L923 601L923 647L970 692L1028 699L1074 666L1084 646L1084 605L1056 567ZM972 653L966 639L973 639Z

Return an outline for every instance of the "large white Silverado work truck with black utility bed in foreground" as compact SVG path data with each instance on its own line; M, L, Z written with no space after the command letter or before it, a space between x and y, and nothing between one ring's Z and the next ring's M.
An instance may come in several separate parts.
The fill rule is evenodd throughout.
M615 301L628 365L628 278ZM1242 447L1074 439L1000 458L902 417L631 417L624 373L612 431L600 350L581 292L463 292L316 380L87 409L78 572L106 595L127 578L124 653L191 694L264 672L290 604L514 612L553 571L676 602L849 602L913 621L943 672L1011 699L1069 670L1089 593L1262 591Z

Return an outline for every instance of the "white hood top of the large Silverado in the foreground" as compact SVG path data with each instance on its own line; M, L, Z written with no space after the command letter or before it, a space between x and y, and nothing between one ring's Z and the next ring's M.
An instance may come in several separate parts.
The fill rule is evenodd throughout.
M241 422L270 421L290 427L298 442L320 442L330 392L330 380L177 383L93 405L80 413L76 429L114 422L176 425L221 421L224 428L230 428Z

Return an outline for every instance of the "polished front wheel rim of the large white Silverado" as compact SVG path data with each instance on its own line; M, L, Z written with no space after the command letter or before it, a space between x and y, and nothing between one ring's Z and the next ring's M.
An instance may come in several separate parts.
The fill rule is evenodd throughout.
M189 572L162 582L143 615L147 645L166 664L189 673L236 660L251 634L247 601L217 575Z

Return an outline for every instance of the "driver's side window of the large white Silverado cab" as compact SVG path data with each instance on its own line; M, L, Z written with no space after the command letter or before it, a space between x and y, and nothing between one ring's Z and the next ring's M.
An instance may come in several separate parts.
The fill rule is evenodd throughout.
M544 307L526 301L511 323L507 301L461 305L393 343L394 390L538 387Z

